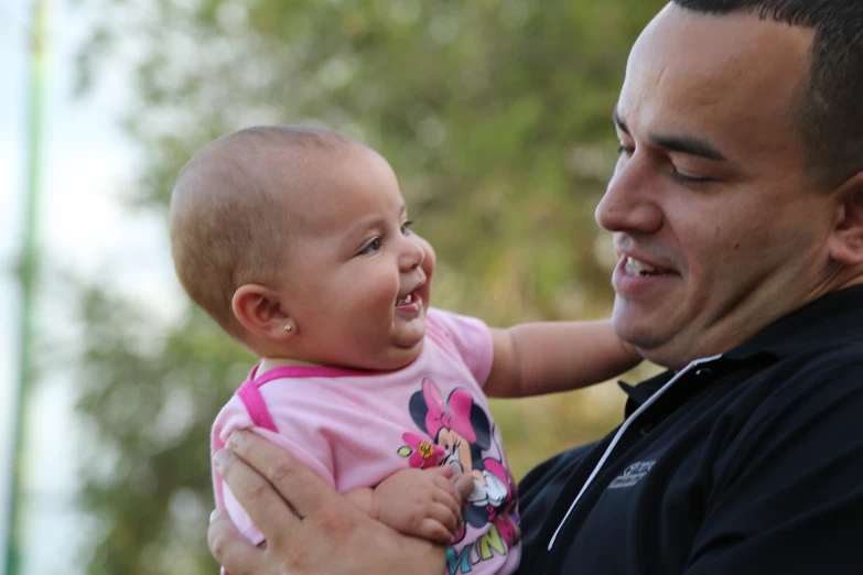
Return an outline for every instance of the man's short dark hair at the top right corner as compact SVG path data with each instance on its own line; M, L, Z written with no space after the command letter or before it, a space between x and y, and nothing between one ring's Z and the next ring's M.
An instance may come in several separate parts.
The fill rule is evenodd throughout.
M863 169L863 0L673 0L708 14L752 13L811 28L809 74L796 121L819 180L838 184Z

